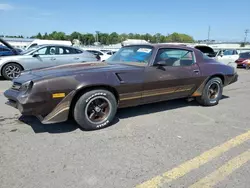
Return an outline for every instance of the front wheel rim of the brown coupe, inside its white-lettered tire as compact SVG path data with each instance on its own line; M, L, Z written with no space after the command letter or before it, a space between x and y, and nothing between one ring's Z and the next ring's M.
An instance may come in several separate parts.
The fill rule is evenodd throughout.
M105 122L111 114L111 103L103 96L91 99L85 108L87 120L93 124Z

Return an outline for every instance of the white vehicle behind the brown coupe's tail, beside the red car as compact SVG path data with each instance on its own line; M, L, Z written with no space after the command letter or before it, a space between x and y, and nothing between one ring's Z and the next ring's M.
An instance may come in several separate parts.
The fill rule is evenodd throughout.
M239 58L239 53L235 49L218 50L214 59L218 62L237 68L235 61Z

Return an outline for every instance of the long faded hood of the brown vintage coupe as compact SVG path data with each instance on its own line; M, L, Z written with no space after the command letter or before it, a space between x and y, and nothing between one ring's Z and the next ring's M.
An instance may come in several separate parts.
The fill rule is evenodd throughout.
M117 70L131 70L131 69L141 69L144 66L140 66L139 63L106 63L106 62L89 62L89 63L72 63L54 67L33 69L31 71L24 71L21 75L32 74L39 77L55 77L55 76L67 76L81 73L90 72L108 72Z

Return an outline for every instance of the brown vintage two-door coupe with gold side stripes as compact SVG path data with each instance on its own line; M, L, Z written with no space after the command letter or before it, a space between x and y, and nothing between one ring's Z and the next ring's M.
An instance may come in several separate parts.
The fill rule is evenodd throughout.
M6 104L42 123L71 115L85 130L108 126L118 108L176 98L201 105L219 103L236 70L184 45L122 47L105 62L68 64L26 71L6 90Z

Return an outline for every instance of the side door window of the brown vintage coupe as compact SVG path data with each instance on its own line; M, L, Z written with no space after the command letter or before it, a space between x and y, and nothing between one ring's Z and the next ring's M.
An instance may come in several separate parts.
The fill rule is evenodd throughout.
M190 66L194 64L193 52L184 49L159 49L155 64L164 62L165 66Z

